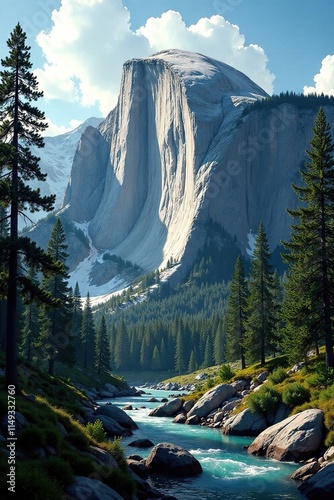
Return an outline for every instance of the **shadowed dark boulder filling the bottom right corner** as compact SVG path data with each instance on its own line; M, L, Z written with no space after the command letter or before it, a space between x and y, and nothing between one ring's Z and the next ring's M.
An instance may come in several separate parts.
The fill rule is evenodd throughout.
M314 476L303 482L298 489L306 498L332 500L334 498L334 463L320 469Z

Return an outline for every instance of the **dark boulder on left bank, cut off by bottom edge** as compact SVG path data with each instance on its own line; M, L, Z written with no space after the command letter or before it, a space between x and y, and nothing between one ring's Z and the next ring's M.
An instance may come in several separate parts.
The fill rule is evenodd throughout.
M74 482L66 488L66 498L71 500L122 500L123 497L98 479L74 476Z

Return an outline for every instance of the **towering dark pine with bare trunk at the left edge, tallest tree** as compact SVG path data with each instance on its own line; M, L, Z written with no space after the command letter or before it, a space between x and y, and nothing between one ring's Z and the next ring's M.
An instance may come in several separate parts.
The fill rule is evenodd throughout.
M37 271L52 270L54 263L29 238L19 236L18 217L29 207L31 211L52 210L54 196L42 197L39 189L31 189L27 182L44 181L38 162L31 153L32 145L43 147L40 133L45 130L44 114L31 103L42 97L38 92L37 79L30 71L30 47L26 34L17 24L7 41L9 55L1 61L0 71L0 200L9 208L10 234L0 239L0 254L7 273L5 284L7 297L6 326L6 385L14 385L19 391L17 379L17 309L18 291L23 295L38 296L55 304L49 294L29 281L19 265L18 255L24 255L27 266ZM1 276L1 279L4 275Z

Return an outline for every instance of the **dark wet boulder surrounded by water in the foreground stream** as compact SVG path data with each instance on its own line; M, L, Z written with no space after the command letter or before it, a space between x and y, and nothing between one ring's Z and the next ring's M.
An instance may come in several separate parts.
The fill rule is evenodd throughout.
M146 459L151 472L173 476L193 476L202 472L199 461L189 451L170 443L157 444Z

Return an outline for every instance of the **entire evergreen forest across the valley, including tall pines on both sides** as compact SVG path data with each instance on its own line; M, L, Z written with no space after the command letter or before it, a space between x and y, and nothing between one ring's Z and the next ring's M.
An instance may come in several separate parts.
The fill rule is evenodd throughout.
M19 393L18 355L53 375L58 363L108 371L193 372L239 362L241 367L278 354L291 362L324 346L334 366L334 160L325 96L291 93L254 105L281 102L317 106L308 160L292 186L300 208L290 210L291 240L270 249L259 221L251 256L211 219L206 244L183 284L172 288L164 270L93 307L79 284L69 286L66 221L52 214L45 250L18 231L27 208L52 213L54 196L42 197L29 181L45 180L30 146L43 147L42 97L31 73L25 33L17 25L0 72L0 325L6 353L6 384ZM65 227L64 227L65 226ZM167 268L177 265L170 259Z

